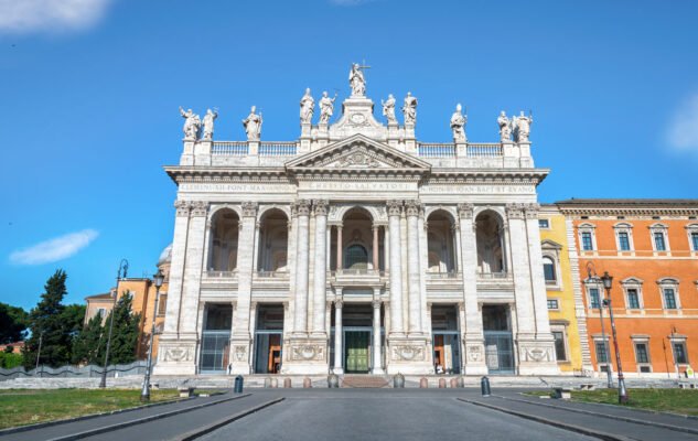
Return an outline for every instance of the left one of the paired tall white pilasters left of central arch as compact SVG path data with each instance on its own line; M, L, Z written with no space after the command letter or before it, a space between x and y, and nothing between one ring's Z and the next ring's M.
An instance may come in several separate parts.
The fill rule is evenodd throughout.
M298 238L296 241L296 318L293 333L308 334L308 235L310 225L310 202L297 201Z

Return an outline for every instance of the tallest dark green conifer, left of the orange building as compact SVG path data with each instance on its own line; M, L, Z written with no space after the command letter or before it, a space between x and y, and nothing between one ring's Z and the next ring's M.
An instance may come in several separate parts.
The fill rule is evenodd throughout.
M66 279L65 271L56 270L46 281L41 301L29 314L29 327L32 335L24 345L23 364L26 369L35 366L37 356L40 364L52 367L62 366L69 359L71 335L63 323L65 306L61 303L67 294ZM39 354L40 341L41 354Z

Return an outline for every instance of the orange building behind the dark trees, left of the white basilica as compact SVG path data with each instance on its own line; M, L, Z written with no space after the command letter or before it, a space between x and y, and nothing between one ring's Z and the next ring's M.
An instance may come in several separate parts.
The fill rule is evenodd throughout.
M148 357L148 346L150 345L150 330L152 321L155 321L155 336L153 338L153 357L158 355L158 341L162 333L164 324L164 313L168 304L168 281L170 277L170 262L172 258L172 246L162 251L158 261L158 268L164 273L164 282L160 288L160 301L158 302L158 311L155 313L155 286L150 278L126 278L119 281L118 297L121 298L125 292L130 292L133 297L132 313L140 314L140 333L138 336L138 347L136 348L136 358L144 359ZM116 295L116 287L110 292L96 294L85 298L87 308L85 310L85 323L87 323L96 314L103 318L103 324L107 320L107 315L114 306L114 297ZM108 323L107 323L108 324Z

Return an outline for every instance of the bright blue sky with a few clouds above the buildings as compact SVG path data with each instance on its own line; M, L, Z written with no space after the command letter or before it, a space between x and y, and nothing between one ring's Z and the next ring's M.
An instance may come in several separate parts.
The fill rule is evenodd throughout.
M376 103L418 97L422 141L449 141L457 103L474 142L496 141L500 110L533 109L541 202L696 197L697 15L690 0L0 0L0 301L33 306L56 268L68 302L105 292L121 258L154 272L179 106L217 107L215 138L236 140L257 105L262 139L297 139L305 87L341 100L364 58Z

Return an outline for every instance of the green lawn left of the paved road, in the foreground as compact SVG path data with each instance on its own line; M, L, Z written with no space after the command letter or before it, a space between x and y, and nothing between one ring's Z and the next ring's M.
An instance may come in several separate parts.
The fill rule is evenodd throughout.
M150 402L176 399L175 389L150 391ZM141 405L140 389L7 389L0 391L0 429Z

